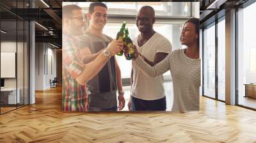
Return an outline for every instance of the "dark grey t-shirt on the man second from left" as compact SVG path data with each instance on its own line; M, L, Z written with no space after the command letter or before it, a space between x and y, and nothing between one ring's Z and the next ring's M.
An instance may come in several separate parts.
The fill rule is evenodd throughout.
M88 31L83 36L78 36L77 46L88 47L92 54L106 48L112 40L111 37L103 34L96 36ZM87 82L88 102L91 107L109 109L117 105L116 101L116 70L115 57L111 57L100 72Z

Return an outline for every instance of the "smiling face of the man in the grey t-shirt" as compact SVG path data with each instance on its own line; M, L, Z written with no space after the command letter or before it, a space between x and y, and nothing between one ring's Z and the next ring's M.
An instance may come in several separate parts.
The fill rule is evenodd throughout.
M107 22L108 10L103 6L95 6L93 13L88 13L88 19L90 20L90 26L94 29L102 30Z

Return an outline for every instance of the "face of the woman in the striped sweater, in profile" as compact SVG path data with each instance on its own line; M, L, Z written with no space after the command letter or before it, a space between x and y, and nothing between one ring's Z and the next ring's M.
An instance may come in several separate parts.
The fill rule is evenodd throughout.
M181 45L191 45L191 43L198 42L198 32L196 31L195 24L187 22L180 34Z

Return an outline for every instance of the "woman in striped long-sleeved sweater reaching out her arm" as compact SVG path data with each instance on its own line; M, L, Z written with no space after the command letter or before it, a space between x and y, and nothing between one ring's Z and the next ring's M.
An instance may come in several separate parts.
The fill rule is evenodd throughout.
M199 19L189 19L180 34L180 42L186 49L172 51L163 61L150 66L136 47L134 64L149 77L156 77L170 70L173 79L173 112L199 110L201 59L199 58ZM138 57L138 58L137 58Z

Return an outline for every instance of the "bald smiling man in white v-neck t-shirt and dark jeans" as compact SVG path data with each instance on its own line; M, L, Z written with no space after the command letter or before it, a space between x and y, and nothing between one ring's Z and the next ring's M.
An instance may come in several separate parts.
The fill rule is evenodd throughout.
M138 52L151 66L161 62L172 51L170 41L154 31L155 21L154 9L151 6L143 6L136 17L140 34L133 40ZM132 64L129 110L166 110L163 83L163 75L148 77L136 64Z

